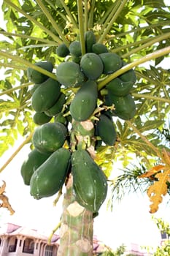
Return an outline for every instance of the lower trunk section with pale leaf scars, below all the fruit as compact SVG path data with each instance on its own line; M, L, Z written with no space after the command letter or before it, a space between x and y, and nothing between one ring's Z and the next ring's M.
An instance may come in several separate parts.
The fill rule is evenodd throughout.
M72 175L66 185L57 256L93 255L93 213L80 206L72 191Z

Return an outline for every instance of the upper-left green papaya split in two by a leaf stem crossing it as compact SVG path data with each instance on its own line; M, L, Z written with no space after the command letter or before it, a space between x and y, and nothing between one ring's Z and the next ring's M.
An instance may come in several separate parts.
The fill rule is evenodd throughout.
M48 72L53 72L53 64L50 61L39 61L35 63L37 67L42 67L42 69L47 70ZM32 67L28 67L27 69L27 77L33 83L43 83L47 78L47 75L42 74L39 71L36 71Z

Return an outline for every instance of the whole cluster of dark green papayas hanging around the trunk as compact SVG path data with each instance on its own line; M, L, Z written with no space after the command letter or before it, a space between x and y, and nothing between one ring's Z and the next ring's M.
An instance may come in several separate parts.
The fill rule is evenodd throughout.
M107 178L88 153L90 145L73 149L72 137L78 132L82 137L93 138L94 143L113 146L117 132L112 116L126 120L135 114L130 91L136 76L131 69L107 83L105 93L101 94L98 80L125 63L105 45L97 43L93 31L85 33L85 51L82 55L78 40L71 42L69 48L64 43L58 46L56 53L64 59L56 67L57 80L28 68L28 80L34 83L31 89L33 119L38 127L32 138L34 149L23 162L21 175L24 183L30 185L31 195L40 199L58 192L72 171L77 202L97 212L107 196ZM39 61L36 65L53 72L50 61ZM74 94L72 100L67 100L65 89ZM93 123L90 131L82 126L88 120Z

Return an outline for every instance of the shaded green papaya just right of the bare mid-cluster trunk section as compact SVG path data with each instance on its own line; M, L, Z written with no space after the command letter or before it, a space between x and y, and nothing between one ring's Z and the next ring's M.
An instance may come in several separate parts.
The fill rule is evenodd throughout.
M117 132L113 121L109 116L105 114L99 116L99 121L97 121L96 124L96 135L99 136L106 145L114 145L117 138Z

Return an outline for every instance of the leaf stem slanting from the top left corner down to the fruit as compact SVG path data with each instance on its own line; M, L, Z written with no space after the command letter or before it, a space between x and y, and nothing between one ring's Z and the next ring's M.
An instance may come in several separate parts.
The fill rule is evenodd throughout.
M9 4L9 6L11 6L12 8L14 8L15 10L17 10L18 12L20 12L22 15L24 15L26 18L28 18L28 20L30 20L32 23L34 23L36 26L39 27L39 29L42 29L42 31L45 31L50 37L52 37L55 42L58 42L59 44L62 43L62 40L56 36L55 34L53 34L52 31L50 31L49 29L46 29L45 26L43 26L41 23L39 23L37 20L35 20L33 17L31 17L30 15L28 15L26 12L24 12L23 10L21 10L18 6L16 6L15 4L12 4L11 1L9 0L4 0L7 4Z

